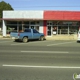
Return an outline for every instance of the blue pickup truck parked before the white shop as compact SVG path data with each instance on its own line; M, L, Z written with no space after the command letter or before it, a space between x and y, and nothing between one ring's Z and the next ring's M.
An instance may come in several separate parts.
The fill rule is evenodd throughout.
M23 32L11 32L10 36L14 41L20 40L24 43L28 42L29 40L38 39L43 41L45 36L43 33L39 33L35 29L25 29Z

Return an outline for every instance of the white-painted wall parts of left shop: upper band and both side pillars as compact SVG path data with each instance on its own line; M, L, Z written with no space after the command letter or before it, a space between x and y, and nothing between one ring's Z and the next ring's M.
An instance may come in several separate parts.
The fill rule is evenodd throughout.
M3 11L3 19L42 19L44 11ZM43 33L43 22L40 22L39 32ZM3 20L3 36L6 36L6 24Z

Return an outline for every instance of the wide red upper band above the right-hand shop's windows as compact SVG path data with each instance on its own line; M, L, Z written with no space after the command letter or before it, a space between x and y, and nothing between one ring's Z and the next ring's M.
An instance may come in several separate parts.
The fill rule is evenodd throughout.
M44 11L44 20L80 21L80 11Z

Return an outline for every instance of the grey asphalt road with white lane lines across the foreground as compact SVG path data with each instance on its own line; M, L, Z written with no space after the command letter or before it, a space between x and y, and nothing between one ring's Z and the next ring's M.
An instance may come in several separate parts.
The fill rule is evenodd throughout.
M0 39L0 80L73 80L74 73L80 74L76 41Z

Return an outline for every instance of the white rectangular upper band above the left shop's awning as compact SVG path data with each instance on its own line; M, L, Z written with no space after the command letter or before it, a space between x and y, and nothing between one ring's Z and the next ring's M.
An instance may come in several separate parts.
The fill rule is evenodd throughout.
M43 19L43 11L3 11L3 18Z

